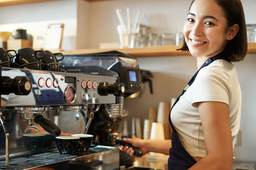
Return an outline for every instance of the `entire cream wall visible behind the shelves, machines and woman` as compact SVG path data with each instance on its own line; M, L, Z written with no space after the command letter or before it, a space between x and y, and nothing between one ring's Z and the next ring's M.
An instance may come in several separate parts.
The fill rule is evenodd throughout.
M256 1L242 1L246 22L256 23ZM22 27L30 32L32 28L41 30L49 22L65 22L64 49L74 49L76 46L98 48L100 43L118 42L115 8L122 8L124 11L129 7L131 13L136 10L145 11L142 24L150 26L151 32L175 33L182 31L189 3L188 0L119 0L95 3L61 0L3 6L0 7L0 16L4 16L0 20L0 31L13 31ZM76 37L77 34L79 38ZM125 108L129 110L128 120L138 115L141 119L147 118L149 107L157 107L159 101L170 101L172 97L179 96L196 71L195 59L188 56L145 57L138 58L138 62L141 69L148 69L154 74L154 95L149 94L148 85L145 84L142 97L125 99ZM235 157L237 160L252 162L256 162L255 63L256 55L253 54L246 55L243 62L236 64L243 93L243 106L242 145L236 146Z

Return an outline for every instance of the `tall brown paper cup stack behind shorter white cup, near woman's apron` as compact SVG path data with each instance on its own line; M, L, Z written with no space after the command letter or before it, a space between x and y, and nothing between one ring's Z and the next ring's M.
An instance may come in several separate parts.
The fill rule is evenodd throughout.
M160 102L157 111L157 122L163 124L165 139L171 139L169 124L170 102Z

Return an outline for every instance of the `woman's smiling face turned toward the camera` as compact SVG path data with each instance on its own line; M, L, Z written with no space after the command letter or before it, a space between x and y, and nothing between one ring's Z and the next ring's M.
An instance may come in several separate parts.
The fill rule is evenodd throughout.
M213 57L231 39L225 13L214 0L196 0L192 4L183 33L189 52L195 57Z

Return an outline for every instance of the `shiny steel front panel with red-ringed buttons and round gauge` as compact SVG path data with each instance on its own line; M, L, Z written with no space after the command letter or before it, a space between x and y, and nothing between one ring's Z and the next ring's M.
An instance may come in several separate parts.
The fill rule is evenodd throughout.
M28 96L11 96L17 97L16 101L19 100L19 103L8 103L7 106L15 107L32 107L36 106L79 106L85 104L112 104L116 103L116 97L113 94L108 96L100 96L97 92L97 87L90 87L83 89L82 83L97 82L108 82L113 84L116 82L116 77L111 76L98 76L90 74L79 74L79 73L63 73L63 72L54 72L54 71L41 71L33 69L15 69L2 67L2 76L10 76L14 78L15 76L29 76L32 80L32 92ZM47 82L49 87L47 87ZM58 81L54 87L54 81ZM52 83L51 83L52 82ZM51 86L50 86L51 85ZM40 87L42 86L42 87ZM68 89L71 87L71 89ZM68 90L67 90L68 89ZM76 89L76 91L72 91ZM67 100L67 92L70 92L70 95L74 95L74 99ZM74 94L72 94L74 93ZM65 94L67 94L65 96ZM76 97L75 97L76 96Z

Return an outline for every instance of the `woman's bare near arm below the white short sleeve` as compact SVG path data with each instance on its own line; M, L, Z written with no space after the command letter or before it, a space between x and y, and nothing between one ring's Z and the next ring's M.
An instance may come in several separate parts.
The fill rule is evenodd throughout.
M207 155L189 170L232 169L233 147L229 107L220 102L202 102L198 111L204 129Z

